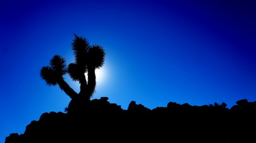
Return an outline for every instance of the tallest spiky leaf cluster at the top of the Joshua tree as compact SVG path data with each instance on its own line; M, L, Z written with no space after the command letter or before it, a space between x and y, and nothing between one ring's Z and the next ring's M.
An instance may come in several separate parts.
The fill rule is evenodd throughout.
M75 39L71 43L72 45L72 50L75 55L75 61L78 64L83 64L85 65L86 63L86 54L90 48L90 43L86 38L83 38L81 36L77 36L74 34Z

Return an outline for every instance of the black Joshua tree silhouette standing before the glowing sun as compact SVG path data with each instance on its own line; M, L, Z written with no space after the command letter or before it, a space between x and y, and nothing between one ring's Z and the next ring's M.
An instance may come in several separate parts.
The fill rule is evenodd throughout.
M67 111L75 107L81 109L86 102L90 101L96 86L95 69L101 68L105 61L105 50L101 45L90 45L86 38L76 34L74 36L71 46L75 55L75 62L67 66L63 57L55 55L50 60L50 66L44 66L40 72L40 77L46 81L48 86L58 84L59 88L70 96L71 101ZM73 81L80 83L79 93L75 92L64 81L63 75L66 73ZM87 73L87 79L85 73Z

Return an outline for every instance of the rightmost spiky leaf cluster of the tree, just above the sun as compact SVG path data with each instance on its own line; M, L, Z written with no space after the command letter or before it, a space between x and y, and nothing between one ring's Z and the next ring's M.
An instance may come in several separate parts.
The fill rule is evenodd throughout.
M88 65L101 68L105 62L105 51L102 46L94 44L88 51Z

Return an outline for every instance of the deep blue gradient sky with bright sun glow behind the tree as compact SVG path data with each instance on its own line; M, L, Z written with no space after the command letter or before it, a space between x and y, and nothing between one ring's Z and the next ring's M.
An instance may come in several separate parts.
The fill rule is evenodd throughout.
M255 0L1 0L0 143L64 112L70 98L39 72L56 54L74 61L73 33L106 52L92 99L125 110L256 101Z

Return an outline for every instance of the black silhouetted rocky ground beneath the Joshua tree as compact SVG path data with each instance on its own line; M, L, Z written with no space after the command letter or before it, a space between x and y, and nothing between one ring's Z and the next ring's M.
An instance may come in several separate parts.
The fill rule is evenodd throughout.
M79 112L46 112L12 133L5 143L256 143L256 102L191 106L169 102L148 109L132 101L128 110L92 100Z

